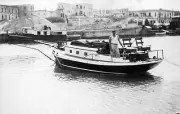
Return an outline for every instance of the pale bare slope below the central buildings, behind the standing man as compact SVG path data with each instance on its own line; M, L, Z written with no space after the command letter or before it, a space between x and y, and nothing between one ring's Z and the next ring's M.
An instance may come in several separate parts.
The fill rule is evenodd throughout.
M74 17L69 19L67 29L109 29L109 28L134 28L136 24L128 22L132 18L119 18L112 17L105 18L90 18L90 17ZM79 26L80 25L80 26Z

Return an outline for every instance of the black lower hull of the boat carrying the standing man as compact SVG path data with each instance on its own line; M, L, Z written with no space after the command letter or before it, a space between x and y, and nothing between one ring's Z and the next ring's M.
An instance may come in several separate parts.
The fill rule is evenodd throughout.
M56 57L56 63L62 67L75 68L79 70L86 70L101 73L114 73L114 74L132 74L143 73L157 66L158 63L144 64L144 65L131 65L131 66L104 66L86 64L77 61L71 61L63 58Z

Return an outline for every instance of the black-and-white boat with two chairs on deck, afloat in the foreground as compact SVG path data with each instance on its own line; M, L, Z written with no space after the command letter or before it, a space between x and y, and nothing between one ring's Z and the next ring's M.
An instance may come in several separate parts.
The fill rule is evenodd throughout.
M142 43L139 39L142 41L136 39L137 45ZM128 40L123 41L124 48L119 48L120 57L110 55L109 43L104 40L59 42L52 53L56 64L62 68L111 74L144 73L163 61L163 50L151 50L150 46L133 47L126 42Z

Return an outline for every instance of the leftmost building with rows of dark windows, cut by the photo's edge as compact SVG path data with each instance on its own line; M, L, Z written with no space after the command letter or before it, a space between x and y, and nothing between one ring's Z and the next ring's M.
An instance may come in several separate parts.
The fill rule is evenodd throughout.
M18 18L18 8L14 6L0 5L0 21Z

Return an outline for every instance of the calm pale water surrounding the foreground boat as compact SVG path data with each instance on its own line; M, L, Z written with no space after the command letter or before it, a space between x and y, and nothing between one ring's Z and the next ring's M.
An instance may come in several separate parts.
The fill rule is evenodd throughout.
M144 39L180 65L180 37ZM28 45L51 56L49 47ZM180 67L166 61L141 76L58 68L35 50L0 45L0 114L175 114Z

